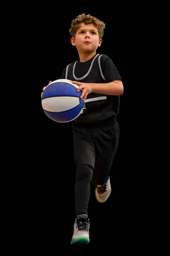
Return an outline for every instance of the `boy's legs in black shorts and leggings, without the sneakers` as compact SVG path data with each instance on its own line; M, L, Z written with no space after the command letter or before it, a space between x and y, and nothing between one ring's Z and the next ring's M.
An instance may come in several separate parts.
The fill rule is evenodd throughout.
M90 185L104 185L119 144L119 124L109 127L81 128L73 126L74 160L77 165L75 181L76 215L88 214Z

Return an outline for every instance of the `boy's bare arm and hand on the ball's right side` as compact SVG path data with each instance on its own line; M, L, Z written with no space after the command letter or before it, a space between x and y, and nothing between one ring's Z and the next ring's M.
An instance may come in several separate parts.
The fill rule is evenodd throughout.
M77 84L79 88L77 91L82 90L81 99L85 101L90 93L102 93L106 95L122 95L123 83L121 80L115 80L110 83L96 84L96 83L81 83L78 81L72 81L73 84Z

